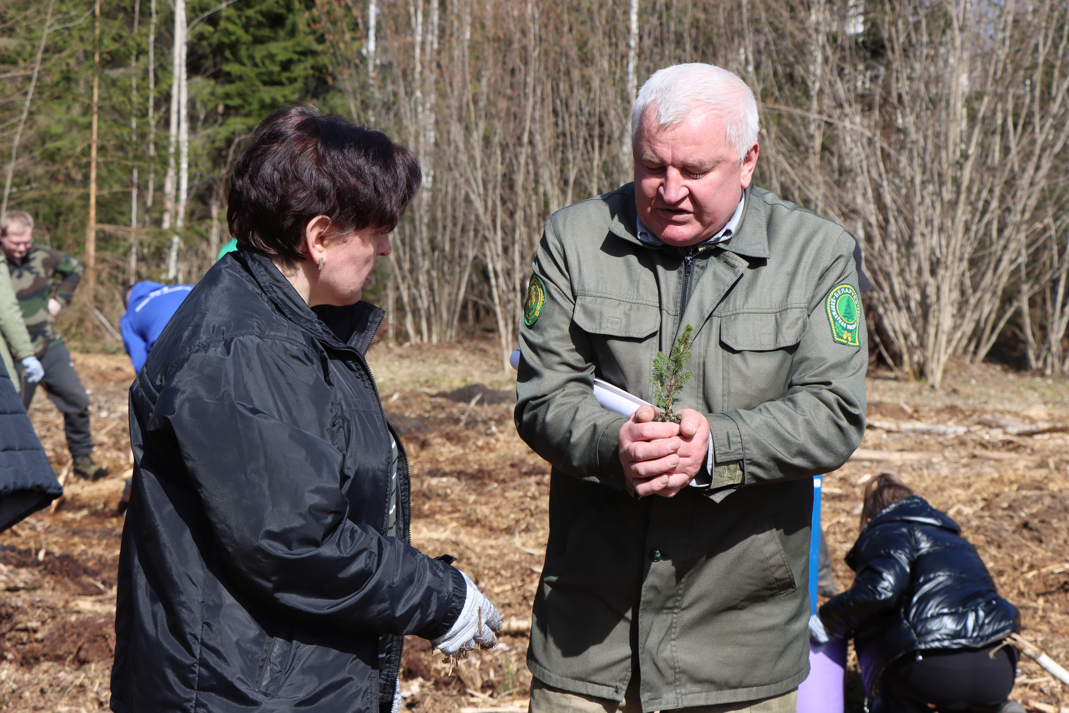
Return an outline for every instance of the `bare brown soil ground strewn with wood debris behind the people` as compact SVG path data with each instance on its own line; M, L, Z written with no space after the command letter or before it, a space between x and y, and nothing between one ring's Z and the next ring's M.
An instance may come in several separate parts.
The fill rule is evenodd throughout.
M516 436L512 388L496 343L435 346L377 343L370 360L391 420L413 462L413 540L449 553L501 609L529 619L548 534L546 463ZM111 470L97 483L68 482L56 512L37 513L0 534L0 710L107 709L114 646L114 585L122 517L114 513L130 472L125 357L75 355L92 390L95 456ZM482 385L482 386L475 386ZM454 401L446 396L466 388ZM489 387L489 388L487 388ZM474 405L469 401L482 392ZM919 453L913 460L852 461L824 481L823 523L840 587L852 573L842 557L857 533L864 482L894 470L950 514L979 549L1001 592L1021 609L1025 636L1069 664L1069 435L1012 436L980 425L996 413L1020 421L1069 422L1069 383L996 367L956 367L940 391L887 373L869 379L869 418L892 424L961 425L957 435L872 428L863 448ZM40 393L31 418L57 471L69 461L62 419ZM502 637L451 672L429 646L410 639L402 682L416 713L497 708L526 710L527 638ZM1069 695L1022 660L1014 697L1057 711ZM859 679L848 672L851 713ZM467 712L466 712L467 713Z

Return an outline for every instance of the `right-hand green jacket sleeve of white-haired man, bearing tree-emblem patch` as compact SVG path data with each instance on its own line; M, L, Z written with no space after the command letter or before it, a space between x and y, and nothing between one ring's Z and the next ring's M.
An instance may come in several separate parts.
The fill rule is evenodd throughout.
M858 345L853 346L835 341L825 305L835 288L857 289L853 247L845 231L833 244L812 292L786 396L747 410L708 415L717 466L741 462L743 485L835 470L865 435L868 337L862 307L856 305Z

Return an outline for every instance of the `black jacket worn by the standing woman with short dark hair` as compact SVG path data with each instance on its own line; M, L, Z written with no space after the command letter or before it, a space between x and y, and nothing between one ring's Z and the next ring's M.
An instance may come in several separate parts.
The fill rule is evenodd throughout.
M130 387L111 710L389 710L400 636L456 620L460 572L407 544L363 358L382 316L313 312L244 248L174 313Z

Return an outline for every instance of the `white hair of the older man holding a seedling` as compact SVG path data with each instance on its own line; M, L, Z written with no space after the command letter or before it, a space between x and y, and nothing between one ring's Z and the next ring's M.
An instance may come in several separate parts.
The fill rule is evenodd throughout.
M713 64L676 64L657 69L647 79L631 112L632 144L641 130L642 115L651 107L656 108L661 126L679 124L698 108L715 113L724 121L728 142L739 154L740 164L760 130L754 92L738 75Z

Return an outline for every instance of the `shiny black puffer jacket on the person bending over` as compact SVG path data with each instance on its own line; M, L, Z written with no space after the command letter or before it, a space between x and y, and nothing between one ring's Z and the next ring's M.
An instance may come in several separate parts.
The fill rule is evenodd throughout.
M862 530L847 564L853 586L820 607L828 634L854 636L871 697L883 670L909 651L980 647L1016 631L1017 608L998 596L958 525L913 495Z

